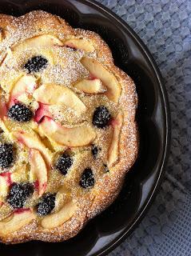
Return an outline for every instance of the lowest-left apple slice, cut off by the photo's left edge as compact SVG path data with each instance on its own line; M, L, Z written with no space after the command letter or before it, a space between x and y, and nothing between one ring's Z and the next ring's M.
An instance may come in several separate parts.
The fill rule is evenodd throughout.
M7 235L20 230L35 219L34 213L29 210L15 212L7 219L0 222L0 234Z

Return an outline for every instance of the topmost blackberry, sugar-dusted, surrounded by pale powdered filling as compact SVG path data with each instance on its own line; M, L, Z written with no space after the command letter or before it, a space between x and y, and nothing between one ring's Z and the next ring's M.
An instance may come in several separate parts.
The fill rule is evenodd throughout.
M48 65L48 61L46 58L43 58L41 55L34 56L30 58L28 62L24 65L24 69L28 71L28 73L39 72L46 68Z

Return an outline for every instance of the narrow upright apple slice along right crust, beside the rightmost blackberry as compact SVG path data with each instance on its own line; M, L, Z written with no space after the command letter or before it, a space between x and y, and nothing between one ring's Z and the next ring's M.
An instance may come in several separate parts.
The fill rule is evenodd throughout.
M112 167L114 163L118 160L119 154L119 141L120 141L120 133L121 133L121 126L123 122L122 114L117 114L117 117L113 120L113 136L112 142L109 146L108 151L108 167Z

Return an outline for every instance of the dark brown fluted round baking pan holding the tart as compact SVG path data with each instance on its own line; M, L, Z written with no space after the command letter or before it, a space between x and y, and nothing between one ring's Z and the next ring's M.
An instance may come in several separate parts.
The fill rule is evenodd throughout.
M0 244L2 256L93 256L113 250L148 210L164 173L169 151L169 104L161 74L149 50L125 22L89 0L0 0L0 12L20 16L30 10L58 14L70 25L94 30L113 51L117 66L137 85L140 151L117 200L75 238L61 243Z

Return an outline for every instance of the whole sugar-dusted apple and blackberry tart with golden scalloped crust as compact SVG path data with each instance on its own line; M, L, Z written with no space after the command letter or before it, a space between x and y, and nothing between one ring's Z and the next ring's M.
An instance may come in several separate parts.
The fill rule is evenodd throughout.
M137 158L137 94L94 32L0 14L0 240L59 242L109 206Z

